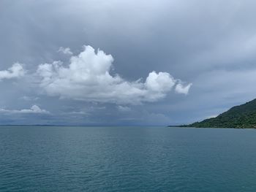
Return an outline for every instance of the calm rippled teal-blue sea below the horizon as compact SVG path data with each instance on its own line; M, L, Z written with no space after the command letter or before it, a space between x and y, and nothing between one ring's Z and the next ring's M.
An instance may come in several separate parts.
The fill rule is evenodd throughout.
M256 191L256 130L1 126L0 191Z

